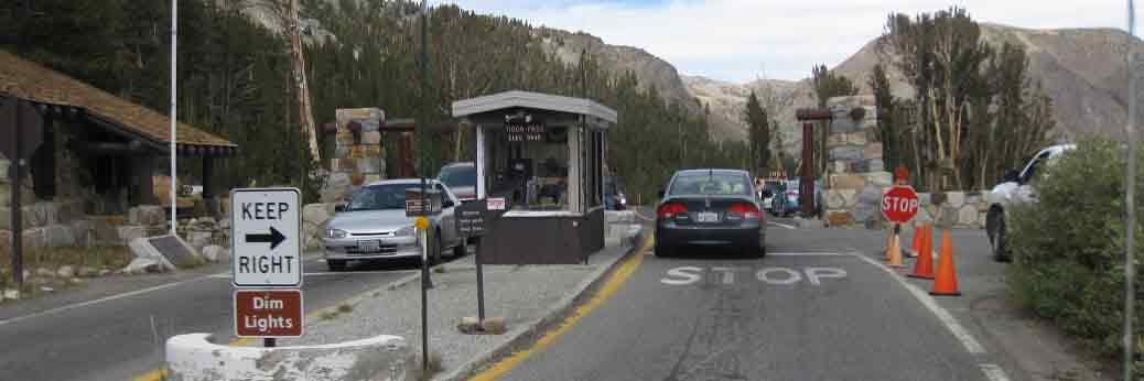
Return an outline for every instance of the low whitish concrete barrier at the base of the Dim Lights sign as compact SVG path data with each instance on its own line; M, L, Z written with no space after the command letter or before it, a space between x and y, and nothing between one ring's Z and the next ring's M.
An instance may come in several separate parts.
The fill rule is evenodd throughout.
M228 347L207 333L167 340L167 378L175 381L326 381L411 379L414 358L405 339L380 335L310 347Z

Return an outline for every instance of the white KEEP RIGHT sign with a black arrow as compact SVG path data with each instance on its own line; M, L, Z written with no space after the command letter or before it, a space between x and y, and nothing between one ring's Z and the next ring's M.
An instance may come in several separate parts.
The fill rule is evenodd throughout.
M296 188L230 191L231 281L236 287L302 284L300 195Z

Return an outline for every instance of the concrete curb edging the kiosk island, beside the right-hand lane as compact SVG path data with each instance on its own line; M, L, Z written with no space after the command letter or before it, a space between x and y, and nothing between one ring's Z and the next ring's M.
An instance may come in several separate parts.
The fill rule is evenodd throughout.
M644 230L646 230L646 228L641 228L639 233L637 233L636 237L634 237L636 243L642 243L646 239L648 236L645 235ZM577 285L572 294L564 296L558 302L553 304L543 316L530 322L523 327L510 331L507 334L509 336L508 341L493 346L493 348L490 348L478 354L472 359L461 364L452 372L439 378L434 378L434 380L435 381L467 380L479 373L479 371L482 371L488 364L492 364L503 358L505 356L513 354L519 348L524 348L531 344L535 338L547 332L548 328L563 322L564 318L567 317L567 315L571 311L573 311L577 305L581 304L585 299L590 297L589 295L590 291L598 288L599 284L604 281L606 276L609 273L612 273L613 270L615 270L617 265L623 262L623 260L628 259L631 255L638 255L638 252L642 247L643 245L633 245L622 255L617 256L612 261L612 263L607 263L606 265L597 269L587 279L582 280L579 285Z

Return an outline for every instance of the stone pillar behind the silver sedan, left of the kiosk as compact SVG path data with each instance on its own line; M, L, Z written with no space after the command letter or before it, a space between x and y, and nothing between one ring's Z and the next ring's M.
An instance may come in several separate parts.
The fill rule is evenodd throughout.
M358 186L384 178L384 148L380 109L339 109L336 145L329 162L329 176L321 190L323 203L342 200Z

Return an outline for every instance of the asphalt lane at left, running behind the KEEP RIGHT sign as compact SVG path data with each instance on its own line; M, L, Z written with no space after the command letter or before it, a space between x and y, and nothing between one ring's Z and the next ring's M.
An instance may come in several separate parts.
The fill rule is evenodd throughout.
M308 256L305 310L319 310L415 272L416 262L331 273ZM114 278L43 300L0 307L0 380L130 380L162 364L172 335L233 340L229 265ZM96 301L96 302L88 302ZM89 304L79 304L79 303Z

